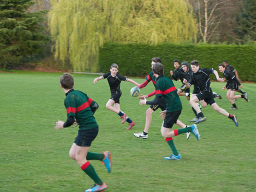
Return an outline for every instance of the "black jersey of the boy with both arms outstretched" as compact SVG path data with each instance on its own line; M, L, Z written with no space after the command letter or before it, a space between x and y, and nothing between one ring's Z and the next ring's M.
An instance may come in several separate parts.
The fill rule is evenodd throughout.
M107 78L111 94L121 94L122 93L120 90L121 81L127 81L127 77L119 75L118 73L116 73L115 77L112 77L111 72L107 72L103 74L102 78L103 79Z

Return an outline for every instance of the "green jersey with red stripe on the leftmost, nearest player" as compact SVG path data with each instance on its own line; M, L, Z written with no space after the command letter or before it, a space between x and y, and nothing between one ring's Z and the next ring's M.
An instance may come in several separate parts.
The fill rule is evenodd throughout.
M94 104L95 101L85 93L71 89L64 100L64 105L67 109L67 118L74 116L80 130L99 127L90 108Z

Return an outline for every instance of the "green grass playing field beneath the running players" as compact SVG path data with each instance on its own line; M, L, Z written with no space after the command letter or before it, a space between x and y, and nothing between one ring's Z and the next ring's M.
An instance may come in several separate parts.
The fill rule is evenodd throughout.
M87 93L100 106L95 113L100 132L90 151L110 151L112 172L108 174L99 161L90 163L108 185L106 192L256 191L256 84L243 84L249 102L240 98L236 101L238 110L229 110L237 115L238 127L207 106L203 109L207 121L198 125L201 140L193 135L186 140L186 134L175 137L182 159L166 161L163 157L169 156L171 150L160 133L160 110L153 114L148 139L133 135L143 131L149 108L129 95L133 84L121 84L121 109L136 122L132 130L126 130L128 123L121 124L119 116L105 108L110 98L107 80L93 84L99 75L73 75L74 88ZM60 76L61 73L0 73L0 192L83 192L93 185L68 156L78 128L54 129L57 120L66 120ZM180 82L174 83L180 86ZM216 100L218 105L228 110L231 104L221 89L224 85L211 86L223 96ZM141 94L153 90L151 83ZM192 109L184 96L181 101L179 120L190 125Z

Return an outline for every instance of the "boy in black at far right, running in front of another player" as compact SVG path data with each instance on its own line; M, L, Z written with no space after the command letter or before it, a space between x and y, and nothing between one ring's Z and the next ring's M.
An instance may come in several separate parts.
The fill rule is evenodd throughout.
M230 103L232 104L232 108L230 109L237 109L235 102L233 99L237 98L244 98L248 102L248 96L243 94L239 96L235 96L235 91L238 91L239 88L241 88L243 85L239 83L236 76L230 72L229 70L226 70L225 65L223 63L220 63L218 65L218 69L220 72L223 73L223 76L227 80L226 86L223 86L222 89L227 89L227 98L229 99Z

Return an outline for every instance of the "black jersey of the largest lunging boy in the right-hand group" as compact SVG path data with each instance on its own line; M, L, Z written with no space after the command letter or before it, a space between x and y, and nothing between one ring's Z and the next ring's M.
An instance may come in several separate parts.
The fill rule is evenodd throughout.
M213 71L214 71L213 68L212 69L199 68L198 72L191 73L191 78L188 84L190 85L197 84L200 91L203 91L204 89L206 91L210 91L210 88L208 88L210 87L210 84L211 84L209 74L212 74Z

